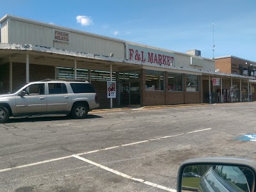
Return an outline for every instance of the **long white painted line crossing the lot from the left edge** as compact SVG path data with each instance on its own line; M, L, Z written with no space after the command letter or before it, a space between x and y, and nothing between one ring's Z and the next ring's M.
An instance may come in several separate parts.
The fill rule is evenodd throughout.
M187 134L193 133L193 132L207 131L207 130L211 130L211 129L212 128L201 129L201 130L197 130L197 131L191 131L191 132L187 132ZM26 168L26 167L35 166L35 165L38 165L38 164L50 163L52 161L59 161L59 160L62 160L62 159L67 159L67 158L70 158L72 156L82 156L82 155L92 154L92 153L100 152L100 151L104 151L104 150L110 150L110 149L113 149L113 148L127 147L127 146L131 146L131 145L136 145L136 144L139 144L139 143L145 143L145 142L148 142L148 141L156 141L156 140L161 140L161 139L164 139L164 138L172 138L172 137L175 137L175 136L181 136L182 134L184 134L184 133L170 135L170 136L162 136L162 137L159 137L159 138L154 138L154 139L150 139L150 140L143 140L143 141L138 141L138 142L134 142L134 143L127 143L127 144L124 144L124 145L116 145L114 147L100 148L98 150L92 150L92 151L83 152L83 153L80 153L80 154L73 154L73 155L70 155L70 156L58 157L58 158L55 158L55 159L39 161L39 162L36 162L36 163L24 164L24 165L20 165L20 166L13 166L12 168L4 168L4 169L0 170L0 172L7 172L7 171L10 171L10 170L14 170L14 169Z

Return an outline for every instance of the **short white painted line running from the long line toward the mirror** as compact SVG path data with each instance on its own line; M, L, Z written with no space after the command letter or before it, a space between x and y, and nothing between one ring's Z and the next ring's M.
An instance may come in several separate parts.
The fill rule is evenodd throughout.
M104 166L102 164L99 164L99 163L95 163L94 161L90 161L89 159L85 159L83 157L80 157L80 156L76 156L74 155L73 157L77 158L77 159L80 159L81 161L84 161L86 163L89 163L89 164L93 164L94 166L97 166L99 168L102 168L103 170L106 170L108 172L111 172L111 173L115 173L116 175L120 175L121 177L124 177L126 179L130 179L130 180L134 180L134 181L137 181L137 182L141 182L143 184L147 184L148 186L152 186L154 188L159 188L159 189L164 189L165 191L171 191L171 192L176 192L175 189L171 189L171 188L166 188L164 186L161 186L159 184L154 184L152 182L148 182L146 180L143 180L143 179L137 179L137 178L134 178L134 177L131 177L130 175L126 175L125 173L121 173L121 172L118 172L116 170L113 170L111 168L108 168L107 166Z

